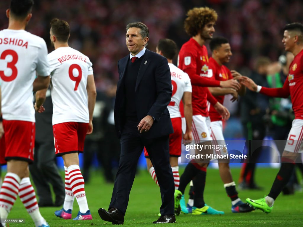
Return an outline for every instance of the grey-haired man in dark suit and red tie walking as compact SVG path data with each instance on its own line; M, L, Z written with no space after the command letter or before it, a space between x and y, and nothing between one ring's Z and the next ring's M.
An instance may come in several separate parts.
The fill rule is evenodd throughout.
M155 168L161 191L161 217L153 223L175 222L174 178L169 164L169 134L173 133L167 105L171 100L168 62L145 48L149 31L141 22L126 26L129 55L118 62L120 80L115 100L115 127L121 141L119 169L108 211L100 217L123 224L138 158L144 147Z

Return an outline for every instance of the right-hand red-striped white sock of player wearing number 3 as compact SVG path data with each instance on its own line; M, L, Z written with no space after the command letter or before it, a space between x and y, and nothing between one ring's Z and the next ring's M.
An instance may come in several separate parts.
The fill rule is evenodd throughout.
M29 180L29 177L22 178L19 187L19 197L25 206L26 211L35 222L36 227L42 224L46 225L45 219L40 214L36 193L31 181Z

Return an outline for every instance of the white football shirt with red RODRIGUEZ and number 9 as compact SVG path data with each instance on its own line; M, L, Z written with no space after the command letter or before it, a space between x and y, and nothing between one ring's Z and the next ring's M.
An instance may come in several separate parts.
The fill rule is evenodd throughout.
M53 125L89 122L87 76L93 74L87 56L71 47L59 47L48 54L51 71Z

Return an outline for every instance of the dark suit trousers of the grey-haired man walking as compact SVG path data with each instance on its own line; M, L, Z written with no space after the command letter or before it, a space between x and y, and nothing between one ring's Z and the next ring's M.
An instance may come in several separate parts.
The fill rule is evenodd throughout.
M109 209L117 208L124 215L134 183L138 159L145 147L155 168L160 186L161 215L174 214L174 177L169 163L169 135L147 139L140 134L137 121L126 121L121 135L121 155ZM152 126L151 126L152 127Z

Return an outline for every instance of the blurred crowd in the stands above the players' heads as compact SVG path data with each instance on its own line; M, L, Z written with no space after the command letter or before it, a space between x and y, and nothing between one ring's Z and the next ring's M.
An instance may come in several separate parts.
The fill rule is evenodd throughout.
M1 1L0 29L7 28ZM105 91L118 80L117 61L127 54L125 26L142 21L150 30L148 48L155 50L160 38L173 39L180 48L189 37L183 28L188 9L209 6L218 13L214 36L230 40L231 69L253 68L256 57L278 60L283 51L282 28L302 21L300 0L35 0L33 17L27 30L45 39L49 51L49 22L58 17L71 26L70 46L86 54L94 64L97 89Z

